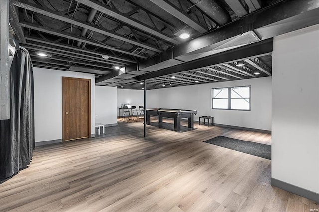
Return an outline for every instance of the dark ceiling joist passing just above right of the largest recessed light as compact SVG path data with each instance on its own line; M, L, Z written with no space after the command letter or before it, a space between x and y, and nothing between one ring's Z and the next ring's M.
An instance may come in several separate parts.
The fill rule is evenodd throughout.
M157 6L159 6L160 8L162 8L163 10L165 10L166 12L168 12L169 14L180 19L181 21L183 21L184 23L186 23L188 26L195 29L196 31L200 33L205 33L208 31L207 29L202 27L199 23L197 23L196 21L192 20L191 18L189 18L188 16L180 12L168 1L164 1L164 0L150 0L150 1L156 4Z

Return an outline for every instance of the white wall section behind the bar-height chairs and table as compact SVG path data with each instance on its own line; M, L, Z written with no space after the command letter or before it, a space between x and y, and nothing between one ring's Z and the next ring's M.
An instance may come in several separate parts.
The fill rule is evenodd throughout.
M136 106L139 110L139 106L144 105L144 91L143 90L129 90L129 89L118 89L118 108L121 104L130 104ZM119 110L118 110L119 113ZM122 111L121 111L122 115Z

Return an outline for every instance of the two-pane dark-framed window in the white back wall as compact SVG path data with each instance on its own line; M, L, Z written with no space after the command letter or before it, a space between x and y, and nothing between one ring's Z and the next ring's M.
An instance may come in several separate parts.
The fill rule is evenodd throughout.
M250 86L213 88L212 109L250 110Z

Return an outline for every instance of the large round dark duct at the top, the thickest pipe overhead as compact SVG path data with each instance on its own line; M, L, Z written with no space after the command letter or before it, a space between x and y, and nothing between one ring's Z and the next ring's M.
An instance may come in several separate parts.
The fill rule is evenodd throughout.
M214 19L219 25L224 25L231 21L230 15L214 0L190 0L200 10Z

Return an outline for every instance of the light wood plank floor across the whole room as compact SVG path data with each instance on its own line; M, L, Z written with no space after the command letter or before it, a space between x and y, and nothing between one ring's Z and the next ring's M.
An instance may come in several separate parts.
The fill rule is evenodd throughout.
M165 121L165 120L164 120ZM0 185L0 211L287 211L315 202L270 186L271 161L204 143L271 135L195 123L177 133L119 122L92 139L37 147L28 168Z

